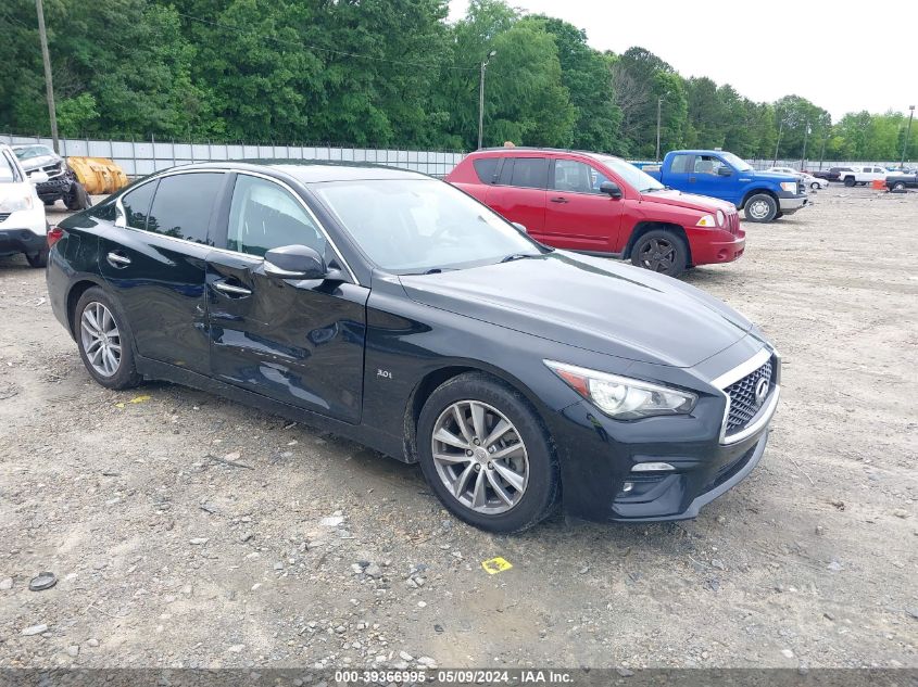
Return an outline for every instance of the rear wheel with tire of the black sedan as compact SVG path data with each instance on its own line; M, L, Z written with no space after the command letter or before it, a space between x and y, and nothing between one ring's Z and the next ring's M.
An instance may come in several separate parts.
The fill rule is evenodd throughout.
M113 298L98 287L76 304L74 329L89 374L108 389L129 389L142 380L134 365L134 341Z

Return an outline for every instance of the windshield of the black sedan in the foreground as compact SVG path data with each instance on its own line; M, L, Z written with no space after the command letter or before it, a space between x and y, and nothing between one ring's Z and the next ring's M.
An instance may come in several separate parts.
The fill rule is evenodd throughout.
M313 187L357 246L395 273L424 273L540 255L539 245L436 179L328 181Z

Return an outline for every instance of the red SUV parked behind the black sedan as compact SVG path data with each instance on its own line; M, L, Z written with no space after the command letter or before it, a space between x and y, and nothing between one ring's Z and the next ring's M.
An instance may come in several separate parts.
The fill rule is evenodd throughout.
M630 258L671 277L743 254L737 208L672 191L618 157L501 148L466 156L447 181L532 238L559 249Z

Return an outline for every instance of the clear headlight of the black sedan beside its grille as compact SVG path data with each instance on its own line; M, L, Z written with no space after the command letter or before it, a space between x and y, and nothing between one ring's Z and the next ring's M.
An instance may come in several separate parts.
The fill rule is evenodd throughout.
M618 377L596 370L544 360L555 374L578 394L616 420L636 420L656 415L684 415L695 407L690 392Z

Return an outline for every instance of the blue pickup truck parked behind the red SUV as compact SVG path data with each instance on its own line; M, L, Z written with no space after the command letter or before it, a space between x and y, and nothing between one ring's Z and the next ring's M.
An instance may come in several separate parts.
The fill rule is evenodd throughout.
M750 221L771 221L807 204L806 187L793 175L756 171L733 153L676 150L659 167L643 170L677 191L709 195L744 209Z

